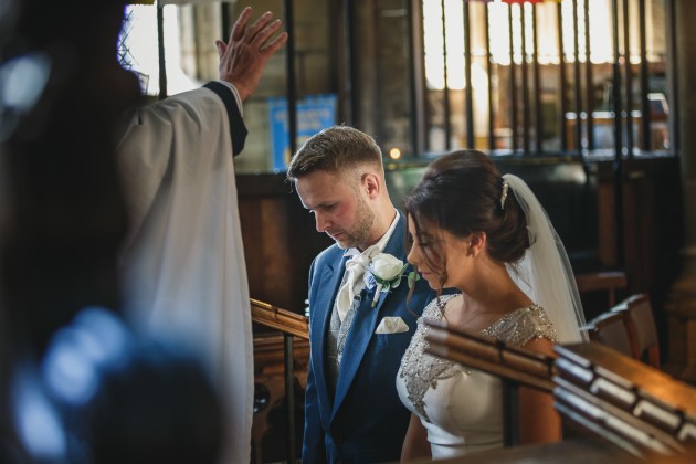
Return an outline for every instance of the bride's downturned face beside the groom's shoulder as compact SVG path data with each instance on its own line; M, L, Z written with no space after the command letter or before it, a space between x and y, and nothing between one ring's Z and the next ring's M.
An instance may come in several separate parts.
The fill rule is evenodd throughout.
M409 235L411 250L407 260L416 266L421 276L431 288L461 287L468 259L468 238L462 239L450 232L420 224L416 230L413 218L409 215ZM444 276L444 277L443 277Z

